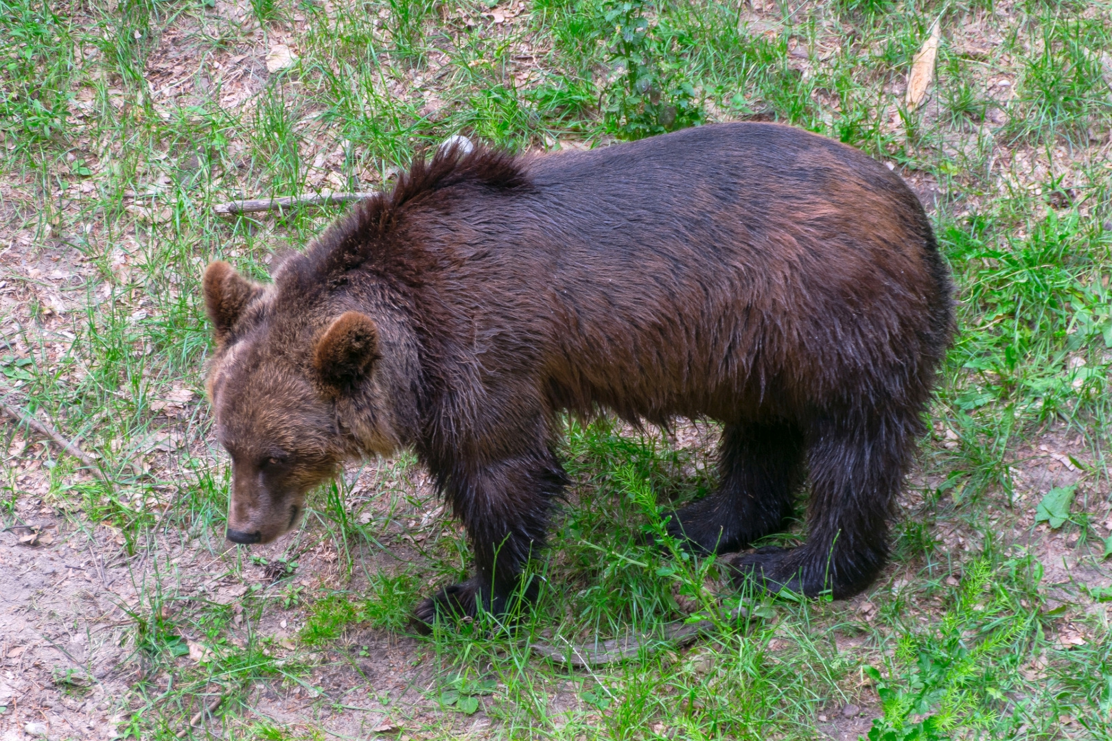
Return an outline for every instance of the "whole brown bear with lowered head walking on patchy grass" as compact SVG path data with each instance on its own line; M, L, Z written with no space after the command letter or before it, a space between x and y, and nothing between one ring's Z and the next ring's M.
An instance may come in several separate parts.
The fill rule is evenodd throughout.
M272 540L344 460L413 449L475 551L474 577L417 608L426 625L503 613L518 593L567 483L563 410L721 421L717 491L672 532L738 551L784 527L810 481L806 542L732 557L737 578L861 591L884 565L954 323L900 177L768 123L440 151L272 284L214 262L203 289L228 538Z

